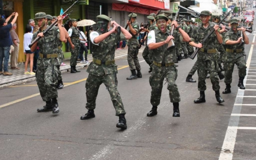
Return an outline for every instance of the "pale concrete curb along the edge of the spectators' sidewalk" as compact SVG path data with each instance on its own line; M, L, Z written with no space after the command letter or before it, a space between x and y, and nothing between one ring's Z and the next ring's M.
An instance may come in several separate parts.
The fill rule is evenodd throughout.
M124 58L124 57L127 57L127 53L124 54L124 55L116 56L115 60L118 60L118 59L121 59L121 58ZM84 68L85 66L88 66L88 65L89 65L88 63L77 65L76 69L81 69L81 68ZM68 72L69 70L70 70L70 66L66 67L66 68L62 68L62 69L60 68L61 73ZM9 87L9 86L12 86L12 85L22 84L22 83L26 83L26 82L31 82L31 81L35 81L35 80L36 80L36 76L31 77L31 78L24 78L24 79L17 80L17 81L11 82L11 83L2 84L2 85L0 85L0 88Z

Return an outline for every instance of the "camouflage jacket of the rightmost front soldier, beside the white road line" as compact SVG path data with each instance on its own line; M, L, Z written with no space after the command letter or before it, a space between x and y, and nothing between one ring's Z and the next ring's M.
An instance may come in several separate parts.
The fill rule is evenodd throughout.
M242 49L242 52L240 53L236 53L236 52L227 52L226 51L226 54L223 55L223 58L222 60L223 61L227 61L227 62L232 62L233 60L236 60L237 58L243 56L243 53L244 53L244 45L243 46L239 46L239 43L238 44L233 44L233 45L228 45L226 44L226 42L228 40L231 40L231 41L237 41L237 39L241 36L241 31L237 31L237 33L233 32L233 30L229 30L226 35L225 35L225 38L224 38L224 41L223 41L223 44L226 45L226 49L232 49L232 50L237 50L237 49Z

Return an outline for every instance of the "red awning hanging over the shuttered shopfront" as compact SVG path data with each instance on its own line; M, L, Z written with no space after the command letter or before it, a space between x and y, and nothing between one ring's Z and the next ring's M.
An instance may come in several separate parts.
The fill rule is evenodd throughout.
M140 7L127 5L127 4L118 4L118 3L112 4L112 10L127 11L127 12L141 13L141 14L147 14L147 15L149 15L150 13L157 13L157 10L151 10L151 9L140 8Z

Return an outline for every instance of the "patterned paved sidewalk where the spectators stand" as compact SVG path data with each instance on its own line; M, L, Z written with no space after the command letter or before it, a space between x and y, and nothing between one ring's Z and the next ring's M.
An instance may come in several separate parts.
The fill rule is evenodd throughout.
M142 46L139 50L139 53L143 52L144 48L145 47ZM128 47L126 47L126 49L116 50L115 60L127 57L127 52L128 52ZM92 54L89 54L87 56L87 59L88 59L89 62L92 62ZM63 60L63 62L66 64L66 66L60 66L61 72L70 71L70 60L65 59L65 60ZM88 65L89 64L80 63L80 61L77 61L76 69L84 68ZM35 75L25 75L24 74L25 65L23 63L21 65L18 65L17 67L19 67L20 69L16 70L16 69L11 69L10 67L8 67L9 72L11 72L13 74L12 76L0 75L0 88L8 87L8 86L11 86L11 85L16 85L16 84L22 84L22 83L26 83L26 82L36 80ZM29 69L29 66L28 66L28 71L29 70L30 69Z

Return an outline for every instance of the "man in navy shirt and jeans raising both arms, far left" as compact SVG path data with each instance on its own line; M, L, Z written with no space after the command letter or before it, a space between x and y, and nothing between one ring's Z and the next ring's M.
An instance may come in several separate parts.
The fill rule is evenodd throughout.
M12 22L7 24L7 22L12 18ZM8 72L8 61L9 61L9 53L10 46L12 45L12 38L10 34L10 29L12 25L16 22L18 17L17 12L13 12L7 19L0 19L0 75L4 74L4 76L10 76L12 73ZM4 60L4 72L3 72L3 60Z

